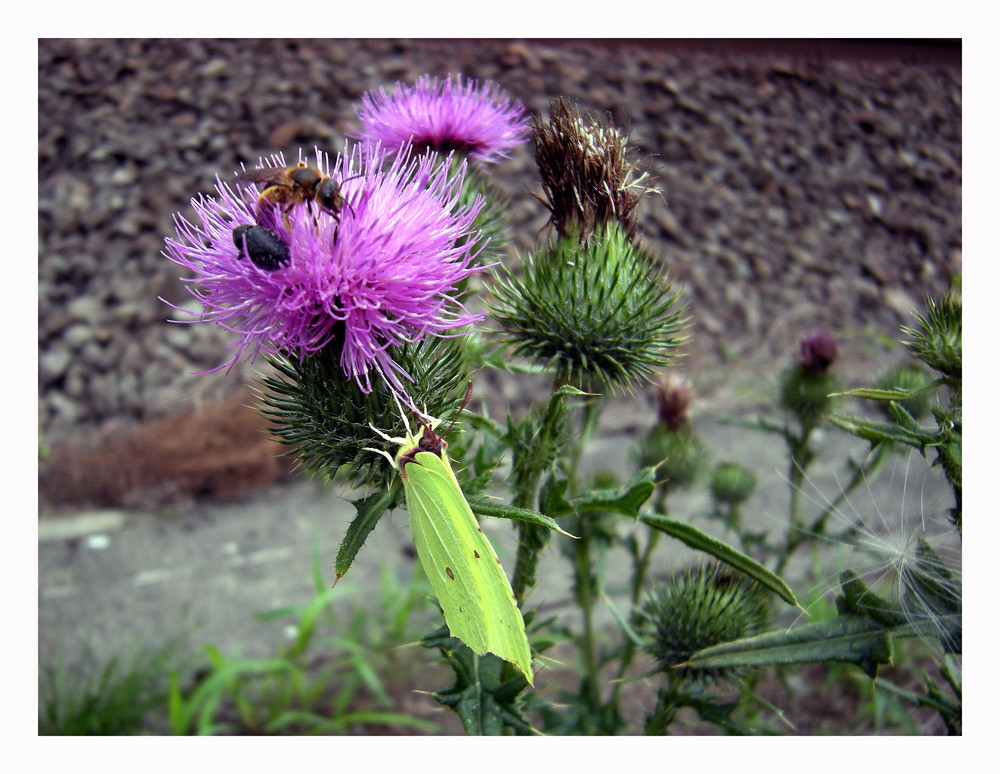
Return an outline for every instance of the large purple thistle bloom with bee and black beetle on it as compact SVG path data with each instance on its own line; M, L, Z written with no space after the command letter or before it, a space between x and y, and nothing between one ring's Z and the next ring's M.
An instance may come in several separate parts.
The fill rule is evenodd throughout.
M460 207L465 164L449 173L433 154L407 151L387 166L377 147L345 149L332 166L325 153L316 155L346 202L337 216L295 205L289 229L264 211L261 225L271 229L268 239L288 246L287 263L262 267L234 242L234 229L257 225L261 186L234 190L219 180L218 198L192 199L201 225L174 217L177 239L165 240L164 254L194 272L184 281L196 286L190 292L204 308L198 320L181 322L214 321L239 335L230 345L236 354L218 368L231 368L244 354L250 362L261 351L304 358L332 345L363 391L371 391L374 369L409 403L401 377L410 377L393 361L392 348L459 335L456 329L484 314L470 314L456 297L459 284L485 268L475 265L473 252L482 241L473 225L482 198ZM268 164L285 166L280 155Z

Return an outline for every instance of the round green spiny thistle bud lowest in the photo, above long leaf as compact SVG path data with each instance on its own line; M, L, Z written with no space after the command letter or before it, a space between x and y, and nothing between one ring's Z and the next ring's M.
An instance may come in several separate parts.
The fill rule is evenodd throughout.
M640 610L639 626L660 669L704 686L745 670L677 665L704 648L760 632L767 619L767 599L755 582L702 565L654 586Z

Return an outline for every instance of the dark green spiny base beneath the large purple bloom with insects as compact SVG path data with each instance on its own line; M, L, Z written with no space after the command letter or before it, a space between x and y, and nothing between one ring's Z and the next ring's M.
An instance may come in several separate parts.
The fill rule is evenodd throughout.
M413 382L409 394L426 414L446 417L461 404L469 367L460 339L433 338L404 344L397 350L400 366ZM371 449L395 453L395 447L372 430L404 434L403 420L385 382L364 392L339 366L332 348L299 359L270 356L277 376L265 377L256 389L258 410L272 422L271 432L294 448L305 470L327 478L338 471L356 485L379 487L394 471Z

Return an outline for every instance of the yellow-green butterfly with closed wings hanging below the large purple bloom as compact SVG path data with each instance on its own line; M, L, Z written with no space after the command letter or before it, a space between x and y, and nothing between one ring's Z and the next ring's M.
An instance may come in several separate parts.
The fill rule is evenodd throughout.
M453 637L480 655L494 653L509 661L533 684L524 619L496 551L451 469L448 444L434 432L441 420L418 415L418 421L421 427L414 435L403 415L405 438L390 438L373 427L386 440L399 444L395 459L387 452L373 451L385 455L399 471L410 534L444 620Z

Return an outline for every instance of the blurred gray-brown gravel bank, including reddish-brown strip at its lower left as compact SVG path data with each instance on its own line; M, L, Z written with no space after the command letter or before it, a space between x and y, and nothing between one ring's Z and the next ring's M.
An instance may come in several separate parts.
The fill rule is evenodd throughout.
M254 369L191 375L223 362L228 340L211 326L164 322L170 310L157 297L187 296L160 254L163 237L216 174L277 150L336 150L364 91L423 73L496 80L535 113L565 96L631 128L663 189L644 202L641 225L685 291L686 367L701 389L718 387L724 364L759 381L821 325L844 339L848 372L864 375L880 356L868 334L895 338L961 270L960 55L655 41L41 40L39 427L53 450L43 498L135 504L136 491L225 494L286 472L259 433L226 443L258 426L240 406ZM527 146L497 179L511 197L512 250L524 252L545 224ZM213 421L221 442L206 438ZM226 486L213 483L226 476Z

